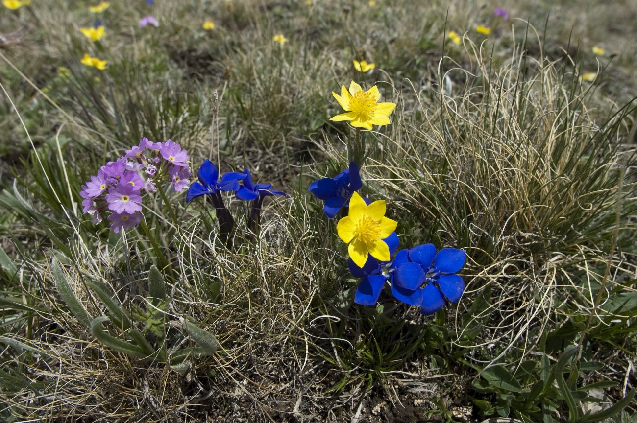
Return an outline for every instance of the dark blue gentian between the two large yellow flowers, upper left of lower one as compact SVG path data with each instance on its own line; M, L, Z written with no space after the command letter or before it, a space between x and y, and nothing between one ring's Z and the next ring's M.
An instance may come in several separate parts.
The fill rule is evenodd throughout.
M354 191L362 188L361 174L355 162L350 162L350 168L343 170L335 177L325 177L314 181L308 187L319 200L324 200L325 215L333 219L336 213L347 205Z

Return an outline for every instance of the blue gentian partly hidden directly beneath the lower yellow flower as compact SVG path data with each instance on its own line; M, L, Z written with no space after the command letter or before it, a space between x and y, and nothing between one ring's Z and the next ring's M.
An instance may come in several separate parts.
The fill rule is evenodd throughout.
M392 234L383 239L383 241L389 247L389 256L393 256L398 249L399 242L396 232L392 232ZM348 260L347 266L350 268L352 275L354 275L354 277L362 277L362 281L356 288L354 295L355 303L374 305L378 302L378 297L380 296L380 291L382 291L385 281L393 278L390 272L383 272L383 267L388 266L390 263L390 261L381 261L379 263L371 254L368 254L367 261L362 268L358 267L351 258Z

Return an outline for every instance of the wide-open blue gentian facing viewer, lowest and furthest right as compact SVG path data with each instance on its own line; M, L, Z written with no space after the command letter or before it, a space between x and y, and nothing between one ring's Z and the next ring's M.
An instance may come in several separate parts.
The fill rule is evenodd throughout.
M436 254L433 244L398 251L392 263L392 293L404 303L420 305L422 314L433 314L442 309L445 298L460 300L464 281L455 273L465 260L463 250L443 248Z

